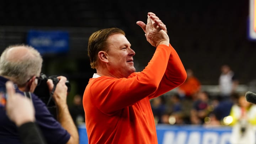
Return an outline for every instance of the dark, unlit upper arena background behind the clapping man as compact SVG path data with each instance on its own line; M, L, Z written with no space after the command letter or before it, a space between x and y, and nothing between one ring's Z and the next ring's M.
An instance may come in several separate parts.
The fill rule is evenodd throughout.
M72 94L83 94L90 68L87 42L102 28L118 27L126 32L136 52L134 65L143 70L155 48L136 21L146 22L154 12L167 26L170 43L186 69L191 68L203 85L217 85L220 66L228 64L240 84L255 79L256 43L247 38L249 0L214 1L0 1L0 51L26 43L28 30L63 30L70 34L66 54L43 55L42 72L65 75Z

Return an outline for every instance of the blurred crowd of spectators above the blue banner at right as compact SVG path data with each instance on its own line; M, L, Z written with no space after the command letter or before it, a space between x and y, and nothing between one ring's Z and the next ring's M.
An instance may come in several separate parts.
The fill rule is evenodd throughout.
M232 115L232 107L241 107L244 103L249 110L252 105L246 100L244 92L238 92L239 77L229 65L222 65L219 76L219 94L211 96L201 89L200 81L192 69L187 69L186 81L177 87L177 91L151 100L151 107L156 124L197 124L226 126L235 123L239 118L227 119ZM252 118L256 121L256 117ZM228 121L229 120L229 121Z

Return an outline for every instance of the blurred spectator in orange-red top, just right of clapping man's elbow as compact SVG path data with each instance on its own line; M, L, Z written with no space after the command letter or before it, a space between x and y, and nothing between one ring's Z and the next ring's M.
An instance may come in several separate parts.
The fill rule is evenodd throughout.
M187 79L186 81L178 87L178 93L181 97L186 97L193 99L195 95L201 89L201 83L194 76L193 71L191 69L187 69Z

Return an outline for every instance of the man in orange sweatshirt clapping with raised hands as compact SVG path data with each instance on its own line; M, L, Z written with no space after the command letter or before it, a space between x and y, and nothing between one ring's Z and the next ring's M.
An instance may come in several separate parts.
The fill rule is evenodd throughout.
M118 28L94 32L88 43L91 67L97 73L83 96L89 144L157 144L150 99L181 85L186 71L169 43L164 23L152 12L138 21L147 41L156 47L148 66L135 72L131 44Z

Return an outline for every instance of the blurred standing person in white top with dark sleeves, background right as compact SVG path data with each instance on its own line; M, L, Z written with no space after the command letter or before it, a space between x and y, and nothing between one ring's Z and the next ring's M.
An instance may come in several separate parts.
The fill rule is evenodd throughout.
M219 76L219 101L230 98L230 95L236 91L239 84L238 77L230 69L229 65L221 66L221 74Z

